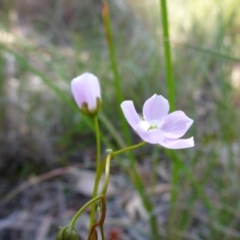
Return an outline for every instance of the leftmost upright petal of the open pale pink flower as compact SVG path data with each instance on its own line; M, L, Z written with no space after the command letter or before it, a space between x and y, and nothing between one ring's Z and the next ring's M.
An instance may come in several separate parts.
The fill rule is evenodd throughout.
M124 101L120 106L129 125L136 131L136 127L142 119L137 114L133 101Z

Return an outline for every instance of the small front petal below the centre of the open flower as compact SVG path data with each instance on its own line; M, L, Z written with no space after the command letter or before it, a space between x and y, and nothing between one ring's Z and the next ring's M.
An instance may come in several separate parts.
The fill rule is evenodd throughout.
M159 129L150 129L151 125L146 121L141 121L136 128L138 135L143 141L157 144L162 141L163 136Z

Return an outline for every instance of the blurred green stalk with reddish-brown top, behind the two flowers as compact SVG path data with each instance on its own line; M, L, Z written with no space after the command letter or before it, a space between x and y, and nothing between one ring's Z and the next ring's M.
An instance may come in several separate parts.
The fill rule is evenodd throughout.
M117 61L116 61L114 41L113 41L113 37L112 37L110 13L109 13L108 4L106 1L103 1L102 17L103 17L103 23L104 23L104 27L105 27L105 35L106 35L106 40L107 40L107 44L108 44L111 68L112 68L113 75L114 75L114 83L115 83L115 91L116 91L117 101L118 101L118 104L120 105L123 100L123 97L122 97L122 93L121 93L120 77L119 77ZM120 108L119 108L119 115L120 115L120 119L121 119L122 130L123 130L124 136L126 138L126 142L130 145L131 140L130 140L130 134L128 131L127 122L125 121ZM133 176L132 176L133 184L136 187L136 189L141 197L142 203L143 203L146 211L149 214L149 224L150 224L150 228L151 228L152 239L160 239L157 218L155 215L153 215L153 204L150 201L149 196L147 195L147 193L145 191L145 188L144 188L144 185L142 182L142 178L137 171L137 167L136 167L136 163L133 158L133 155L131 153L129 153L128 156L130 159L130 166L131 166L132 173L133 173Z

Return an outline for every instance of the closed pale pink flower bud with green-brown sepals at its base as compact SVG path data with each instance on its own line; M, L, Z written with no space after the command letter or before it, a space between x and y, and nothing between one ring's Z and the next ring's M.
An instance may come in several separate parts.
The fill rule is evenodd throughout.
M71 82L73 97L83 114L94 117L101 110L102 99L98 78L83 73Z

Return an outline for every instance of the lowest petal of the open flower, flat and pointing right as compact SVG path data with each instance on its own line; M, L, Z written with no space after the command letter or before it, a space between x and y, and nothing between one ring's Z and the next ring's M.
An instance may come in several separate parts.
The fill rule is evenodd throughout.
M190 147L194 147L194 139L193 137L188 139L163 138L163 140L160 141L159 144L169 149L190 148Z

